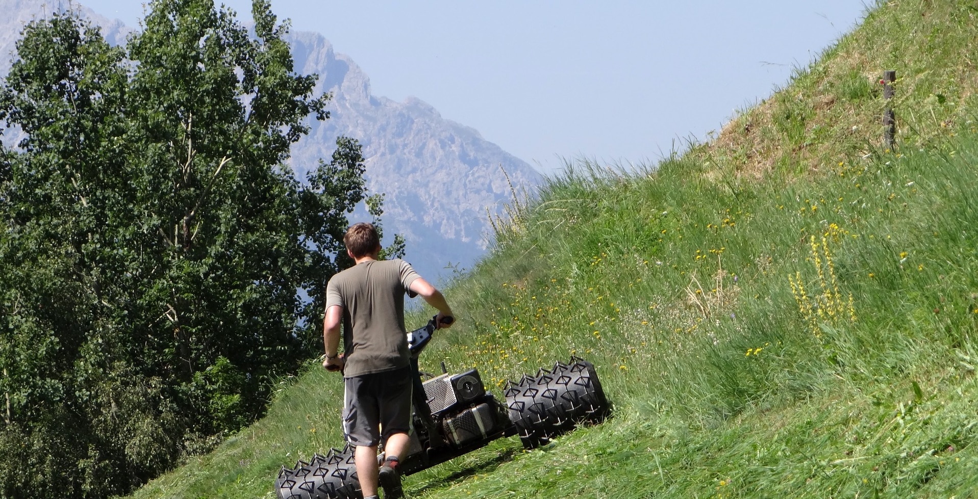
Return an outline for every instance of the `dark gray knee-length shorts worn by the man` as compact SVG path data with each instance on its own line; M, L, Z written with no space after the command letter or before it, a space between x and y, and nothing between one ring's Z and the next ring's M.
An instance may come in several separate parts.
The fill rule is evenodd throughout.
M372 447L382 437L411 432L411 367L345 378L343 437Z

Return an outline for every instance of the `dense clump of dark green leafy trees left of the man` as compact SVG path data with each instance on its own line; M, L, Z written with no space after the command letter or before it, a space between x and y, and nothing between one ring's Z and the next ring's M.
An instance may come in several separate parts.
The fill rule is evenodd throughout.
M0 496L126 493L321 350L363 158L340 138L296 181L329 96L269 2L252 16L156 0L124 48L71 14L24 28L0 89L24 137L0 149Z

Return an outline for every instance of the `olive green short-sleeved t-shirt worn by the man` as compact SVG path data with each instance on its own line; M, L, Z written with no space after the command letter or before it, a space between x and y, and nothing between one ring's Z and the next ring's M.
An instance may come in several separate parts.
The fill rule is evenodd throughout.
M403 260L370 260L333 275L326 286L326 308L343 308L344 377L410 364L404 294L419 277Z

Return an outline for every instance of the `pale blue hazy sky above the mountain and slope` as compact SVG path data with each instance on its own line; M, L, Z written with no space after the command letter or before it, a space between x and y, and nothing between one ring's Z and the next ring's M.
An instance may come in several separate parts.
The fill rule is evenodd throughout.
M871 0L867 0L871 1ZM137 25L134 0L82 0ZM218 0L218 2L220 1ZM250 1L226 0L250 19ZM655 160L771 95L850 31L862 0L272 0L370 76L544 173Z

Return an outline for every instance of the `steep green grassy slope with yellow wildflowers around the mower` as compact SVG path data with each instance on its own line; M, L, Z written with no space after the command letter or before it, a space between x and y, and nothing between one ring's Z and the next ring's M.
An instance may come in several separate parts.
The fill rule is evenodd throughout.
M578 354L615 415L533 452L496 441L407 491L975 494L976 14L882 5L711 143L654 174L578 163L516 210L422 368L502 385ZM886 68L897 151L878 139ZM136 497L273 497L280 465L340 443L339 385L287 380L265 419Z

